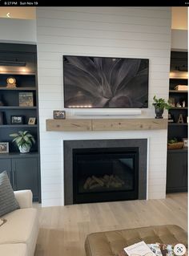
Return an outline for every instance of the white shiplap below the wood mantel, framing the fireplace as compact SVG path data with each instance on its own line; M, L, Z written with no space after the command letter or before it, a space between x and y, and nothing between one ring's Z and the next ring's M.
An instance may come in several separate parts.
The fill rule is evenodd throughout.
M50 145L48 144L48 139ZM167 130L48 132L41 141L42 205L64 205L63 140L147 139L147 199L166 196Z

